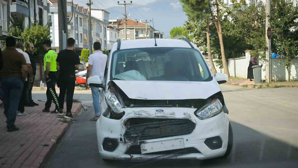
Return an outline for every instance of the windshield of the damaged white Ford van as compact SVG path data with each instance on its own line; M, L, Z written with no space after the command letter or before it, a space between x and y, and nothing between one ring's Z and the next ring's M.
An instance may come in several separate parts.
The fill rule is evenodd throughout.
M154 47L113 54L111 78L134 81L210 81L201 53L191 48Z

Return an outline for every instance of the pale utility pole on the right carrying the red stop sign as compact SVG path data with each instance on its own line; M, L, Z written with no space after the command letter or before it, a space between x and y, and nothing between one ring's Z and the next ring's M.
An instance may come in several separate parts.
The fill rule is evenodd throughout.
M271 14L271 2L270 0L266 0L266 44L267 44L267 50L266 50L266 80L268 82L271 82L271 44L270 44L270 39L267 40L267 29L270 27L270 14Z

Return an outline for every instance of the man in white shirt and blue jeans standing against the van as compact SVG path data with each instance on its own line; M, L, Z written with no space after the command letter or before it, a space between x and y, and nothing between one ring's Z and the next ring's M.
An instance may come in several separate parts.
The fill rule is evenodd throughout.
M108 60L108 56L103 54L103 52L101 51L100 42L95 42L93 44L93 48L94 53L89 56L88 70L86 75L86 87L88 87L87 80L89 77L100 76L100 78L103 78L103 75L105 73L105 65ZM93 98L94 112L96 116L90 119L90 121L97 121L100 117L100 90L98 87L91 87L91 93Z

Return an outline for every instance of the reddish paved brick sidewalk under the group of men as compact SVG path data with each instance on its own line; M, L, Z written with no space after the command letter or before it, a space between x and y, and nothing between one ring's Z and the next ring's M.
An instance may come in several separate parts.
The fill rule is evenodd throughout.
M55 105L52 104L51 110ZM58 114L42 112L44 102L39 106L25 107L26 116L17 116L15 125L19 131L7 132L3 105L0 106L0 167L39 167L48 157L56 141L59 140L69 124L69 119ZM73 115L80 111L81 103L74 103ZM66 110L66 104L64 104ZM65 113L64 113L65 114ZM52 150L51 150L52 149Z

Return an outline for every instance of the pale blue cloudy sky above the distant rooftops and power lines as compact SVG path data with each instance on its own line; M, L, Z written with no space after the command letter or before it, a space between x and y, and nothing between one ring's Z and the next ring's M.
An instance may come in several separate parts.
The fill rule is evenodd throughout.
M70 1L70 0L68 0ZM74 4L87 7L88 0L73 0ZM123 6L118 5L117 1L123 3L123 0L92 0L91 8L108 9L109 18L120 19L123 17ZM130 3L129 0L126 3ZM183 26L187 20L179 0L133 0L134 5L127 5L126 10L129 18L140 21L151 20L149 23L156 30L164 33L164 38L170 37L170 30L173 27Z

